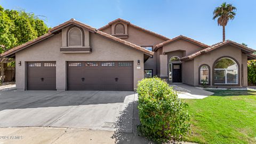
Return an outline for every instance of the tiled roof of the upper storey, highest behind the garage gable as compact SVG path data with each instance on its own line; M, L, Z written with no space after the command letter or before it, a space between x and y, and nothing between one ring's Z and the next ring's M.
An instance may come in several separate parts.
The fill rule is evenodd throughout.
M129 26L132 26L132 27L134 27L134 28L140 29L140 30L142 30L142 31L145 31L146 33L149 33L149 34L154 35L154 36L156 36L156 37L162 38L162 39L164 39L164 40L170 39L170 38L165 37L165 36L163 36L163 35L159 35L159 34L157 34L157 33L154 33L153 31L150 31L150 30L141 28L141 27L139 27L139 26L133 25L131 22L126 21L126 20L123 20L123 19L121 19L121 18L118 18L118 19L116 19L116 20L110 21L110 22L108 23L108 25L103 26L103 27L99 28L98 30L106 29L106 28L110 27L113 23L116 23L116 22L124 22L124 23L127 23L127 25L129 25Z

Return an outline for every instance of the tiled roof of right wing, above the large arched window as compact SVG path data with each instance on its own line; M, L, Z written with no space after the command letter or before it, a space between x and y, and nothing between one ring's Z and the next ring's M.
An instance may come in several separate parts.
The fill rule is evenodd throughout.
M242 50L244 50L244 51L246 51L246 52L248 52L248 53L253 53L253 52L255 52L255 50L253 50L253 49L251 49L251 48L249 48L249 47L247 47L247 46L244 46L244 45L242 45L242 44L238 44L238 43L236 43L236 42L227 40L227 41L225 41L225 42L220 42L220 43L214 44L214 45L209 46L209 47L207 47L207 48L205 48L205 49L203 49L203 50L201 50L201 51L198 51L198 52L195 52L195 53L193 53L193 54L187 55L186 57L181 58L181 60L190 60L190 59L193 59L193 58L197 57L198 55L201 55L201 54L203 54L203 53L207 53L207 52L213 51L213 50L218 49L219 47L224 46L224 45L227 45L227 44L230 44L230 45L239 47L240 49L242 49Z

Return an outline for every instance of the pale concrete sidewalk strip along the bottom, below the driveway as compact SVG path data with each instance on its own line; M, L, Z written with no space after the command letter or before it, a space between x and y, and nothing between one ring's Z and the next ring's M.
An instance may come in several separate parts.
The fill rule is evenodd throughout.
M71 129L59 127L6 127L0 128L0 143L12 144L84 144L84 143L153 143L133 133L123 133L122 139L114 131ZM121 137L119 137L121 138ZM182 142L193 144L191 142Z

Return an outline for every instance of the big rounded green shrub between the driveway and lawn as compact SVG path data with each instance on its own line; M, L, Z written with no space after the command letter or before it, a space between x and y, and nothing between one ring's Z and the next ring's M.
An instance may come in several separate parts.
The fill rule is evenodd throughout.
M182 140L189 130L187 104L161 78L145 78L138 83L139 130L155 141Z

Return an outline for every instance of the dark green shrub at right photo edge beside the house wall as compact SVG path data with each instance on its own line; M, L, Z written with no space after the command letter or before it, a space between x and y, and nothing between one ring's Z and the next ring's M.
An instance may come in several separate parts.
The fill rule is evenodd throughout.
M251 60L248 62L248 82L252 85L256 85L256 61Z

